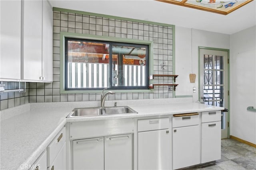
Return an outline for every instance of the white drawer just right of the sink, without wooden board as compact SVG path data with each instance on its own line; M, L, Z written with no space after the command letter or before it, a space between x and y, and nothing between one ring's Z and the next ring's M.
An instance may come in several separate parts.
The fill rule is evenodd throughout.
M169 118L138 120L138 132L169 129Z

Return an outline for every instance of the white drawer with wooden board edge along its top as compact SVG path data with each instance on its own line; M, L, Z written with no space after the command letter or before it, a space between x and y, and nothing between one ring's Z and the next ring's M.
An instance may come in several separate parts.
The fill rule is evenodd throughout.
M179 114L179 115L182 115L182 116L172 117L172 127L199 125L198 113L188 113L188 114L185 113L185 114Z

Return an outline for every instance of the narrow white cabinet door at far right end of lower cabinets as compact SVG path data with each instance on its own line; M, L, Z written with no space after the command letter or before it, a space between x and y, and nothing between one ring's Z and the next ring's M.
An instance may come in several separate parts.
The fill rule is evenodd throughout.
M202 123L201 163L221 158L221 122Z

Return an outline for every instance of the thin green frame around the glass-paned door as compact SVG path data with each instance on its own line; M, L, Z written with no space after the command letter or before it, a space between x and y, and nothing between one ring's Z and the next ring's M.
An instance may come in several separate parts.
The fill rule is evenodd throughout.
M212 47L202 47L202 46L198 46L198 101L200 101L200 49L206 49L206 50L216 50L216 51L225 51L228 53L228 60L230 58L230 53L229 53L229 49L220 49L220 48L212 48ZM228 91L230 92L230 66L229 66L229 62L228 62ZM226 112L228 114L228 138L230 138L230 95L228 95L228 112Z

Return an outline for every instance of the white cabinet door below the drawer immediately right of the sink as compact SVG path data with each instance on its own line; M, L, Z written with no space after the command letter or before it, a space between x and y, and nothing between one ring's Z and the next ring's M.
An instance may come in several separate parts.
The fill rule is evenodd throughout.
M170 168L169 129L138 133L138 170Z

